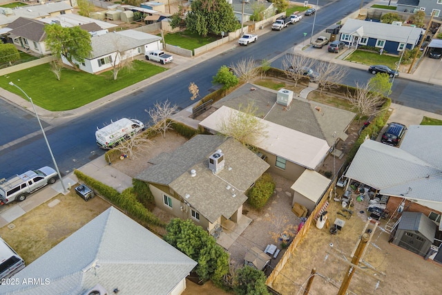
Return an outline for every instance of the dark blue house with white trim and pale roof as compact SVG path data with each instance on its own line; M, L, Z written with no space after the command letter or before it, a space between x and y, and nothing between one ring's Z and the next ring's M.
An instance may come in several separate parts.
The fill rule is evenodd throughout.
M412 26L347 19L339 32L340 41L348 47L372 46L383 49L384 53L399 55L405 48L412 50L419 46L425 31Z

